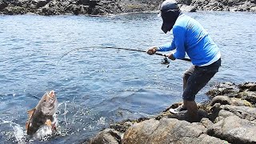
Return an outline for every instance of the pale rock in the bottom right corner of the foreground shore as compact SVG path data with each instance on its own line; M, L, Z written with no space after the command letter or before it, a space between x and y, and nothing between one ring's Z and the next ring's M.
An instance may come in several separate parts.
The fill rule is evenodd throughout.
M214 124L207 134L216 138L225 139L230 143L255 143L256 122L230 116Z

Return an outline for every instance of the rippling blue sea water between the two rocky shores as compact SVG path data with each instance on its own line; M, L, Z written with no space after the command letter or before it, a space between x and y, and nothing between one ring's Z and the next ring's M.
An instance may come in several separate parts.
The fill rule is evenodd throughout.
M206 101L206 91L219 82L256 81L256 14L187 14L222 53L220 71L197 102ZM0 16L0 143L79 143L111 123L149 117L181 102L182 73L190 62L176 60L167 68L158 55L104 49L147 50L170 42L161 24L154 13ZM48 90L58 96L61 134L38 142L25 134L26 111Z

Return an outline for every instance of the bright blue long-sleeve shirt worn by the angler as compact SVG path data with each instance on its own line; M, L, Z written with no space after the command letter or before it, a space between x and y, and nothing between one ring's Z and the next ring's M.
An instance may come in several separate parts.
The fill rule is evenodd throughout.
M178 16L173 35L172 42L158 46L158 51L176 49L174 58L182 59L187 54L195 66L210 65L221 57L218 46L202 25L186 14Z

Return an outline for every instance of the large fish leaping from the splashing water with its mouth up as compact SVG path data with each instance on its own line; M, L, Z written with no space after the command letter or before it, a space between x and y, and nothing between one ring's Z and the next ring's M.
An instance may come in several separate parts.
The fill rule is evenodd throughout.
M38 105L27 112L26 133L32 135L41 126L51 126L52 130L56 129L54 114L57 112L57 109L58 102L54 90L46 92L38 102Z

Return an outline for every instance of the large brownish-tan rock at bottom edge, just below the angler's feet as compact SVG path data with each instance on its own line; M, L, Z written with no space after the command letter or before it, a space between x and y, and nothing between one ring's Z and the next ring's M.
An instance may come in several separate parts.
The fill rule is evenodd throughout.
M123 143L224 143L219 138L210 137L201 123L162 118L140 122L124 134Z

